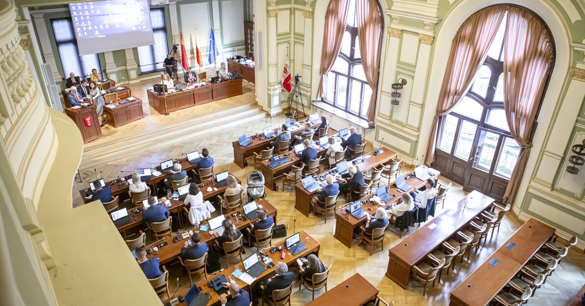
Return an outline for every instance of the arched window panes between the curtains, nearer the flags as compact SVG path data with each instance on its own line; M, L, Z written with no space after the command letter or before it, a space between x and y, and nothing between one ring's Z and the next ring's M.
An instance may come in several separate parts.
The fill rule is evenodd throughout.
M333 68L325 75L324 84L324 102L367 119L371 88L367 85L360 58L355 0L349 2L341 50L333 63Z

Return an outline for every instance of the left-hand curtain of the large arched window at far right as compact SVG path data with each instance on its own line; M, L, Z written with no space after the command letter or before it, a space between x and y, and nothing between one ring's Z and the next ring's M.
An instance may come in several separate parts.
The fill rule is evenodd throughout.
M427 165L430 165L435 158L439 117L450 113L466 95L474 76L486 58L487 50L507 9L506 5L482 9L465 20L455 34L426 149L425 163Z

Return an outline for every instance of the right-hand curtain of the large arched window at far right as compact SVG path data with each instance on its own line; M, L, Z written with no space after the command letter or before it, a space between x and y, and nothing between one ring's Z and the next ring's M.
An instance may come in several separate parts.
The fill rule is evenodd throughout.
M504 110L510 133L521 149L504 203L514 201L518 191L552 62L553 46L545 25L531 13L511 7L504 36Z

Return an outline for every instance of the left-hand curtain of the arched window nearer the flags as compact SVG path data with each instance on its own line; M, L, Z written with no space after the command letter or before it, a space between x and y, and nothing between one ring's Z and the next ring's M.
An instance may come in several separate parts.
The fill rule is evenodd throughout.
M333 62L339 55L345 22L347 20L347 6L349 0L331 0L325 12L325 29L323 32L323 46L321 48L321 68L317 98L323 95L323 78L333 68Z

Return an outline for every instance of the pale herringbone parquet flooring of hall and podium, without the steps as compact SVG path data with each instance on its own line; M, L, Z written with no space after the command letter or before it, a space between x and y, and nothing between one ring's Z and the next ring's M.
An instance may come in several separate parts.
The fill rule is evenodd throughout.
M247 87L247 86L246 86ZM253 85L250 86L253 89ZM143 89L132 86L133 93L139 95L139 91ZM230 99L240 100L233 101ZM245 103L246 99L253 99L252 97L244 98L243 96L230 98L219 102L208 103L198 107L192 107L191 109L182 110L177 112L177 116L199 116L199 114L205 112L217 111L218 109L228 109L230 106L239 105L239 103ZM147 104L145 109L147 109ZM150 109L150 113L154 111ZM183 112L190 112L191 114L178 114ZM261 112L261 110L258 110ZM128 131L116 131L116 133L110 133L108 137L104 137L99 141L103 143L109 142L115 144L115 142L123 137L129 137L134 128L140 130L140 128L151 128L149 124L158 124L156 129L164 128L167 120L171 120L169 116L161 117L151 116L153 120L160 121L159 123L136 123L136 126L129 128ZM147 117L149 118L149 117ZM144 120L147 121L147 120ZM278 116L273 119L273 125L281 124L285 121L284 116ZM139 121L138 121L139 122ZM240 169L238 166L233 164L233 152L231 142L241 135L242 133L250 134L255 131L261 131L265 125L265 120L252 120L245 121L245 123L239 124L239 126L222 128L221 131L211 131L213 126L210 124L208 133L198 133L194 137L184 135L183 140L178 141L172 145L166 145L161 148L154 149L152 151L143 150L136 152L132 157L128 158L112 158L109 161L105 161L101 166L106 180L114 179L123 170L132 170L141 166L156 165L160 161L164 161L170 158L179 158L181 154L191 151L192 149L208 148L211 152L212 157L215 159L215 171L228 170L234 175L238 176L242 180L242 185L245 188L245 182L247 175L254 170L253 163L245 169ZM129 124L130 126L130 124ZM119 132L119 133L118 133ZM109 132L108 132L109 133ZM121 141L126 142L126 141ZM92 143L93 145L93 143ZM122 144L121 144L122 145ZM367 150L371 150L367 148ZM85 157L84 157L85 159ZM84 160L83 163L91 162ZM94 174L89 173L89 169L82 169L84 171L85 182L75 183L73 187L74 205L78 206L82 203L78 196L78 189L87 186L87 182L94 179ZM99 168L98 168L99 171ZM91 169L93 172L93 169ZM441 183L447 183L448 180L441 178ZM281 188L281 186L279 187ZM407 290L403 290L393 281L384 276L388 263L388 249L391 246L398 244L402 239L408 236L408 233L402 235L402 239L398 238L397 232L394 229L389 229L384 239L384 249L380 251L375 250L372 256L369 254L369 249L364 246L357 246L354 244L352 248L346 248L345 245L341 244L335 238L333 238L333 231L335 229L335 219L329 217L325 224L322 217L315 217L309 215L305 217L301 213L298 213L294 208L294 189L286 187L284 190L280 189L278 192L271 192L266 189L267 200L270 201L278 209L278 224L290 225L288 232L291 234L294 231L304 229L312 237L316 238L321 242L321 251L319 252L320 258L323 260L326 266L332 264L331 273L329 273L328 287L332 288L336 286L347 277L352 276L355 273L360 273L367 280L369 280L374 286L380 290L380 295L386 301L394 301L396 306L412 306L412 305L433 305L443 306L449 304L449 294L459 283L461 283L477 266L479 266L491 253L495 251L505 240L519 228L521 222L518 222L512 217L512 214L507 214L502 222L500 231L494 235L493 239L488 237L486 245L480 249L477 255L471 256L470 260L464 260L463 264L457 263L455 272L450 275L443 275L443 281L437 283L434 288L427 290L426 297L422 296L422 286L415 281L411 281ZM464 195L461 186L455 185L450 189L449 194L445 201L445 209L449 208L449 203L455 203L460 197ZM339 201L339 205L344 204L345 200L342 198ZM442 211L441 207L438 207L438 213ZM416 228L410 228L410 232L414 232ZM148 237L148 235L147 235ZM274 242L278 243L282 239L274 239ZM421 241L424 243L424 241ZM248 252L254 252L255 249L249 249ZM107 254L107 256L113 256ZM222 266L225 267L225 260L221 260ZM184 272L184 268L179 264L173 264L167 266L170 271L170 291L173 293L177 288L176 278L180 278L180 283L183 287L189 285L189 278ZM585 283L585 256L579 251L572 249L569 252L569 256L563 259L559 268L549 277L546 284L544 284L536 295L528 301L528 305L542 305L542 306L562 306L566 305L573 295L577 293L579 288ZM321 293L317 293L316 296ZM292 305L305 305L311 300L311 294L309 291L301 289L298 290L298 284L295 284L294 290L291 297ZM343 301L339 302L339 305L343 305Z

